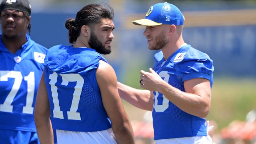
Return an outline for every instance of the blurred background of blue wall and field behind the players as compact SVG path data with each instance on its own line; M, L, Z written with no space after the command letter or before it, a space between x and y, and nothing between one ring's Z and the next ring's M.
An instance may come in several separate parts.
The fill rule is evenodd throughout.
M165 0L185 16L183 38L214 62L211 110L206 118L217 144L256 143L256 0ZM70 45L66 19L90 3L106 2L115 12L112 53L105 55L118 81L139 87L139 71L154 66L154 54L143 36L149 7L162 0L30 0L31 38L50 48ZM123 101L138 144L152 140L151 113Z

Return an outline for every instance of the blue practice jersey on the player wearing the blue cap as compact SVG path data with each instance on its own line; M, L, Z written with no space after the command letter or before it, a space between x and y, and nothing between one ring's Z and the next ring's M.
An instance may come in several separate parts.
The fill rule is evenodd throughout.
M154 70L170 85L185 91L183 82L204 78L213 84L213 61L205 53L186 45L166 61L162 52L155 54ZM154 139L169 139L207 135L206 119L182 111L158 91L154 91Z

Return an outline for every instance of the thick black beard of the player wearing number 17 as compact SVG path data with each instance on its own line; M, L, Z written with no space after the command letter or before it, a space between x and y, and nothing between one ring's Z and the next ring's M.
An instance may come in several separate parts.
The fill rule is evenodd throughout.
M103 45L100 40L98 40L97 36L94 34L94 32L91 32L91 37L89 39L88 44L91 46L91 48L95 49L96 52L100 54L110 54L111 53L111 47L106 48L105 45Z

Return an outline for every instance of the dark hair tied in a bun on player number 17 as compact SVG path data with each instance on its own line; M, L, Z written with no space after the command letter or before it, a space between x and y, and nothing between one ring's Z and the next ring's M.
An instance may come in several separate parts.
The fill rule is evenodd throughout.
M69 30L69 42L74 43L80 35L83 25L92 26L100 23L102 18L113 20L114 11L108 4L89 4L84 6L76 13L76 18L68 18L65 23L66 29Z

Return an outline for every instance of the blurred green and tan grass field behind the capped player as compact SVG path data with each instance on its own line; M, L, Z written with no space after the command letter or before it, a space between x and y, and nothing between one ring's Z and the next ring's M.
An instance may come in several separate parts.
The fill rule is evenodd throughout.
M139 88L139 73L134 71L126 84ZM234 120L245 121L246 114L256 109L256 78L215 77L212 87L212 102L207 120L217 122L217 131ZM142 120L144 110L123 101L131 120Z

